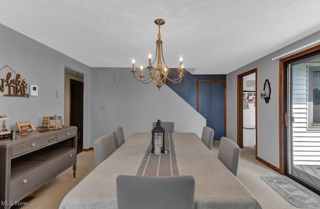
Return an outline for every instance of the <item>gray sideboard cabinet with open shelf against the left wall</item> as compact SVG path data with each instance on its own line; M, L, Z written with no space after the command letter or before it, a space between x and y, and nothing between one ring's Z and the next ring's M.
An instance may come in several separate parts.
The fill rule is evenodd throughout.
M0 139L0 209L10 208L72 165L75 178L76 143L75 126Z

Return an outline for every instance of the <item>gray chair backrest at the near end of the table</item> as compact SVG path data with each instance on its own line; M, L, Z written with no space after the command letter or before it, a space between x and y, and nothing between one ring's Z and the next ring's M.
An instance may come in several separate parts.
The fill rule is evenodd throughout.
M116 177L118 209L193 209L194 177Z

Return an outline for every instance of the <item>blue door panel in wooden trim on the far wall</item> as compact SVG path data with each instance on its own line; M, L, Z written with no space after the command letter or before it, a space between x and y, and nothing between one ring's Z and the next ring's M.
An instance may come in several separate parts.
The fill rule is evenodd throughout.
M197 111L214 130L213 140L225 136L225 80L197 80Z

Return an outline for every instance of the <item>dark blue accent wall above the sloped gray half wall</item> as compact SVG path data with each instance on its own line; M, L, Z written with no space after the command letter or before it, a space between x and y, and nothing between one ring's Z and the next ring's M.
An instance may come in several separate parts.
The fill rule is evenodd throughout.
M188 71L184 71L184 76L180 83L166 81L165 84L196 110L196 80L202 79L225 80L225 74L192 75Z

